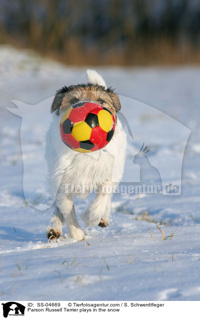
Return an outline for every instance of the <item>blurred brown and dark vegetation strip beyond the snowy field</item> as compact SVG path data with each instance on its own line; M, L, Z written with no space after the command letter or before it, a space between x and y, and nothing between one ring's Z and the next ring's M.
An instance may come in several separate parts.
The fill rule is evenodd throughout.
M68 65L200 62L199 0L0 0L0 44Z

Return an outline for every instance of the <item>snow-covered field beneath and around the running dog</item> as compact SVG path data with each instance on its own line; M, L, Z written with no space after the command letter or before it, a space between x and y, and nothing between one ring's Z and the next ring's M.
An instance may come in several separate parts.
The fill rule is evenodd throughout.
M191 130L181 195L114 194L110 226L99 228L86 227L80 218L91 194L85 201L75 200L85 241L69 238L65 228L65 237L47 242L45 230L53 208L43 210L49 198L37 176L45 170L43 128L33 125L31 116L23 125L23 166L21 118L5 107L14 107L10 100L36 105L63 85L85 82L85 69L0 47L0 299L199 300L200 68L99 71L120 94L122 113L134 136L134 141L128 136L123 182L139 181L139 166L132 160L144 141L151 150L151 165L159 167L160 174L167 172L163 180L169 174L177 184L187 128ZM41 118L47 118L47 108L41 107ZM168 125L164 113L185 125L186 133L180 134L179 124ZM33 207L24 199L23 174Z

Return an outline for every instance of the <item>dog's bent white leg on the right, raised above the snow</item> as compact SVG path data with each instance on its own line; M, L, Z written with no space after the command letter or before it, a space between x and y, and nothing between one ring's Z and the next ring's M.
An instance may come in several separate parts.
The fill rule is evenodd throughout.
M83 222L88 226L105 227L109 225L109 214L112 192L110 192L111 183L106 183L98 189L95 200L89 206L83 216Z

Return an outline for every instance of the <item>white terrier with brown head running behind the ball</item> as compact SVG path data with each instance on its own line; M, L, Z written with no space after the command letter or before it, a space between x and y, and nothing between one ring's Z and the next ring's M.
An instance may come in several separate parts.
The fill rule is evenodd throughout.
M70 236L76 240L83 239L84 233L75 216L73 197L84 198L96 189L96 198L84 212L82 220L88 226L108 226L112 192L107 191L107 186L116 187L123 174L126 135L117 118L117 111L120 109L119 98L111 88L106 87L96 71L87 70L87 79L87 84L71 85L58 90L51 106L53 120L46 134L45 155L48 163L49 191L51 194L56 192L56 209L51 226L47 228L47 237L50 239L61 236L64 220ZM81 101L103 105L115 117L114 135L104 148L97 151L98 156L93 156L93 153L88 155L75 152L64 145L60 138L59 123L63 113L68 107ZM66 192L66 185L75 186L84 192Z

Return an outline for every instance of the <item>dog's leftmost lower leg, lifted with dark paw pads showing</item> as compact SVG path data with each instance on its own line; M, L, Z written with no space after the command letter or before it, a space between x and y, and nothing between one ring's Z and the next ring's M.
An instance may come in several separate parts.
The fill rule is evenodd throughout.
M49 239L59 238L62 234L62 224L64 218L59 208L56 207L54 215L51 219L51 226L47 227L46 236Z

